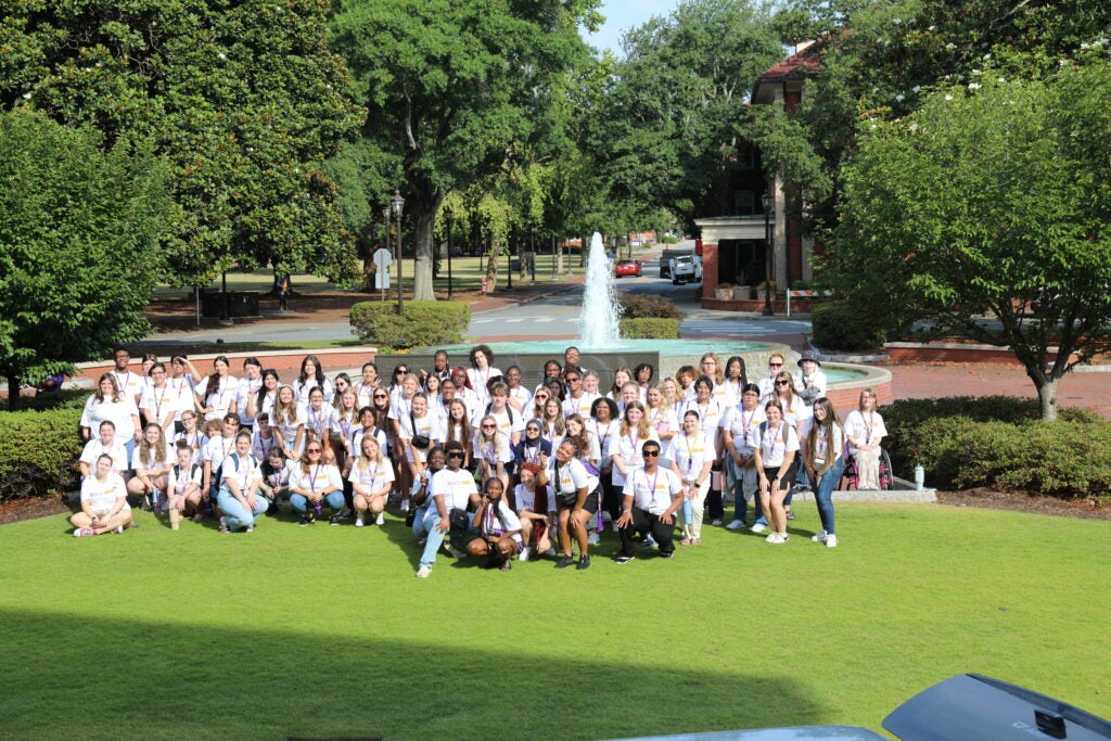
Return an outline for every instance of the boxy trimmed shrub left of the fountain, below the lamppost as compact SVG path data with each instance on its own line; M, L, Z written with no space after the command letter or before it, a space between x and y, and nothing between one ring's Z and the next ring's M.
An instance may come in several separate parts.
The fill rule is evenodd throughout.
M359 339L382 350L458 344L471 308L461 301L407 301L399 319L396 303L363 301L351 307L350 321Z

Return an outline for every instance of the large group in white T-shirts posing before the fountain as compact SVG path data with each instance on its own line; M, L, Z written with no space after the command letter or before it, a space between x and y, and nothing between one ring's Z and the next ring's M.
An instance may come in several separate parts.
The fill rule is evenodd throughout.
M743 358L708 352L658 380L649 364L582 368L571 347L534 388L484 344L467 367L440 351L431 369L399 364L389 378L372 362L357 379L328 378L310 354L288 383L256 358L240 378L223 356L207 375L184 356L169 369L146 356L142 373L126 350L114 361L81 418L74 535L122 532L132 507L168 513L173 528L218 518L232 532L283 503L301 525L327 508L329 524L357 528L383 524L396 504L423 547L421 578L441 548L502 570L513 557L587 569L608 527L615 563L635 558L638 539L671 558L701 544L707 514L723 523L727 493L727 528L785 543L800 488L818 502L813 540L832 548L845 462L860 488L874 487L887 433L871 389L840 421L811 353L797 372L774 353L750 379Z

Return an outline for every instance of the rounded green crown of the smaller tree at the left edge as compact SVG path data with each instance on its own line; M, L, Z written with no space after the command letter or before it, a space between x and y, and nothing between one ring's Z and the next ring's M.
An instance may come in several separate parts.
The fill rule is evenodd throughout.
M150 329L143 309L163 270L169 171L89 127L26 108L0 114L0 374L72 373Z

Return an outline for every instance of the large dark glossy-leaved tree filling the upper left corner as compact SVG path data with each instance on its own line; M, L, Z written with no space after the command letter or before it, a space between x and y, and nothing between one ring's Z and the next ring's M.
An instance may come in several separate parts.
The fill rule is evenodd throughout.
M0 109L33 104L171 164L171 280L232 262L351 274L323 162L360 120L327 48L327 0L8 3Z

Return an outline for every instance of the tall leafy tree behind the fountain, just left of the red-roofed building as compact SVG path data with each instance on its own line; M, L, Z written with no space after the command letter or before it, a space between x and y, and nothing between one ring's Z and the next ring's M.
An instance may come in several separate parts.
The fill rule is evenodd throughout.
M623 37L625 60L590 140L630 212L662 207L693 226L734 213L730 177L747 148L739 121L757 77L782 56L764 6L687 0Z

